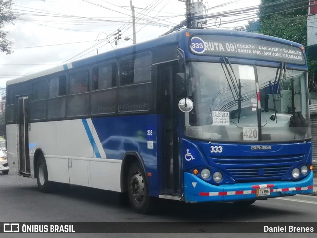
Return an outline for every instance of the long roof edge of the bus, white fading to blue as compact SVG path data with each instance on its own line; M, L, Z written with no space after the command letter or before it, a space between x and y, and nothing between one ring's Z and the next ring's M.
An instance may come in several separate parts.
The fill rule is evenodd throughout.
M148 40L142 43L138 43L135 45L111 50L105 53L101 53L98 55L94 55L88 58L80 59L77 61L73 61L67 64L59 65L47 70L40 71L38 73L26 75L23 77L11 79L7 81L7 85L12 85L24 81L28 81L31 79L39 78L39 77L44 77L48 76L54 73L58 72L63 72L68 69L72 68L77 68L80 66L85 66L85 65L90 65L93 63L98 63L98 62L103 62L105 60L111 60L116 57L121 57L124 55L128 55L129 53L139 53L142 52L146 49L150 49L153 47L158 47L162 45L168 45L168 44L173 44L173 43L178 43L181 41L182 38L185 37L185 33L189 32L191 35L203 35L203 34L210 34L210 35L222 35L222 36L239 36L239 37L247 37L247 38L255 38L255 39L261 39L261 40L266 40L266 41L273 41L273 42L279 42L282 44L286 45L291 45L297 48L301 48L302 45L299 43L295 43L289 40L277 38L277 37L272 37L272 36L267 36L267 35L262 35L262 34L257 34L257 33L250 33L250 32L243 32L243 31L233 31L233 30L221 30L221 29L182 29L180 31L160 36L158 38ZM180 42L181 44L181 42Z

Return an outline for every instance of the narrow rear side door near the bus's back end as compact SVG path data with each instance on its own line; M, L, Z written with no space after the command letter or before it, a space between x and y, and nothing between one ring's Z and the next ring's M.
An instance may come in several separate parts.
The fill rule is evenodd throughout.
M28 124L28 97L19 97L18 100L18 159L19 174L31 175L30 156L29 156L29 124Z

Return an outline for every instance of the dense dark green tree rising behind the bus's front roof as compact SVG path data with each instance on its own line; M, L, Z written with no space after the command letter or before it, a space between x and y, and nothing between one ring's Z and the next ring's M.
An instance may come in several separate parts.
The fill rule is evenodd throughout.
M309 0L261 0L258 20L249 21L247 31L280 37L302 44L306 49L309 88L316 91L316 49L307 47L307 15ZM256 28L255 26L257 26Z

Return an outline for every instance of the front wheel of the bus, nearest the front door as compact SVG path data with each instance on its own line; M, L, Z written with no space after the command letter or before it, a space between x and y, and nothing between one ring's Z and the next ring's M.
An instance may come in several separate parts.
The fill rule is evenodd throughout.
M153 212L154 198L149 196L144 171L135 161L131 164L127 179L128 197L134 211L140 214Z

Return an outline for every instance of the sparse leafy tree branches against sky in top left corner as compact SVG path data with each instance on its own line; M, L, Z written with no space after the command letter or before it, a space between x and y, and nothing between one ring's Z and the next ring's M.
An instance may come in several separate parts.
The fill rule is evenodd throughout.
M12 53L11 44L6 37L9 33L5 31L5 23L13 23L17 16L11 10L12 0L0 0L0 50L6 54Z

